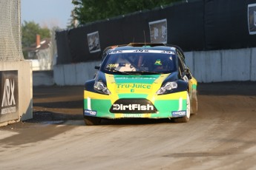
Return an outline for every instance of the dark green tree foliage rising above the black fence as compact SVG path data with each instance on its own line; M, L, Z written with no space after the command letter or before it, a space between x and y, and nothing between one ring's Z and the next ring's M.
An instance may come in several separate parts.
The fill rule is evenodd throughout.
M72 0L73 13L79 24L120 16L140 10L151 10L182 0Z

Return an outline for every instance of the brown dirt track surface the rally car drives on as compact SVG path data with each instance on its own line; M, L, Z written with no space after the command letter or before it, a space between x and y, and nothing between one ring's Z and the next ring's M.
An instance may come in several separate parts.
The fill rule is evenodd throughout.
M188 123L85 126L82 86L33 89L34 118L0 127L0 169L256 169L256 82L200 84Z

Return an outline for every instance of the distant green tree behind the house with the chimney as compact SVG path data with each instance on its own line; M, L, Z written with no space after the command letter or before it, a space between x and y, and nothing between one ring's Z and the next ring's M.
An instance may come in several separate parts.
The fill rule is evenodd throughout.
M24 21L24 24L22 24L22 50L24 58L27 58L27 52L24 49L36 43L36 34L39 34L41 38L50 38L50 30L47 27L42 28L34 21Z

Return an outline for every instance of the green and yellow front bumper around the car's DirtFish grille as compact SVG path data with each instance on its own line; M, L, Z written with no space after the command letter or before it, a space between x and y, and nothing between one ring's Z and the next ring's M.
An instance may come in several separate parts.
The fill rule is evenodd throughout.
M114 103L125 98L126 101L141 98L150 101L156 109L156 112L137 112L127 108L125 112L111 112ZM99 118L177 118L186 115L187 92L175 92L166 95L148 95L148 94L119 94L102 95L95 92L84 91L84 116ZM121 104L122 105L122 104ZM131 105L131 104L130 104ZM134 104L136 107L138 104ZM130 112L130 111L131 112Z

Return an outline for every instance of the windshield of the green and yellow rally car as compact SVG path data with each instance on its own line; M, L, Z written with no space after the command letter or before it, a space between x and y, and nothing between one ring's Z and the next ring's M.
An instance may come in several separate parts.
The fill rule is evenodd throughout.
M161 50L113 51L106 56L101 67L102 72L109 74L163 74L176 70L175 53Z

